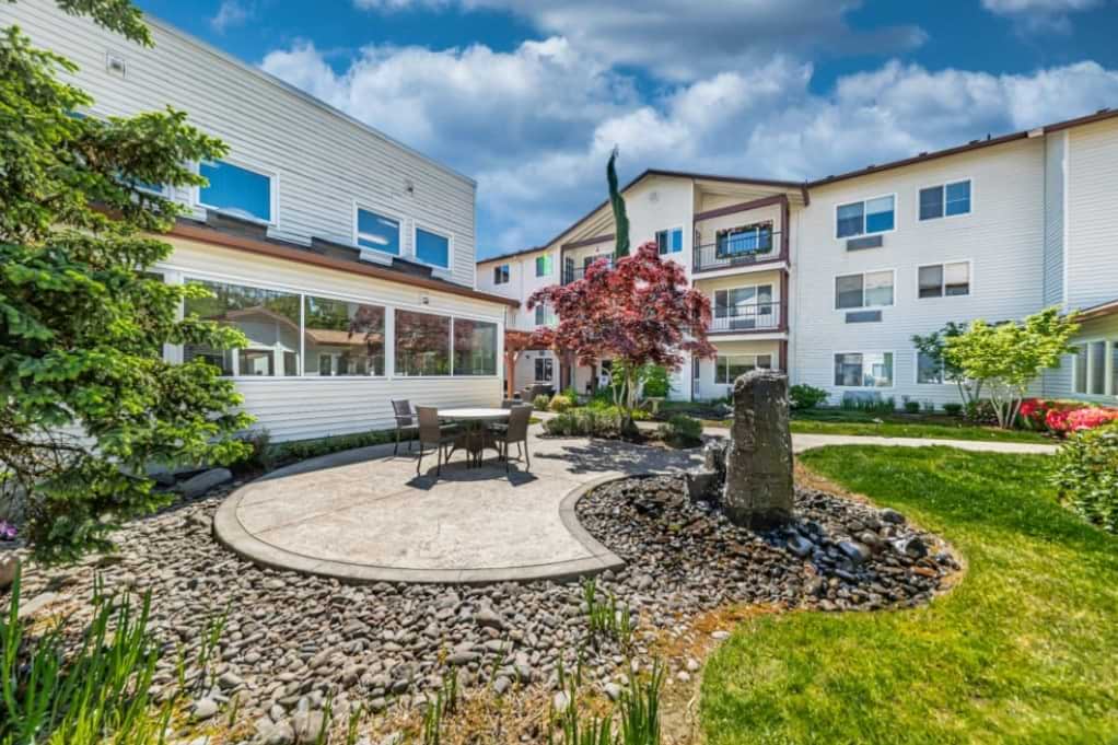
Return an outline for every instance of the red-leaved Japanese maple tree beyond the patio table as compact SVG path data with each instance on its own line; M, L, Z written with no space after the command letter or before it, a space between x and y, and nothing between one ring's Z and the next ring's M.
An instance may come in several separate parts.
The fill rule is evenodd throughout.
M533 342L574 353L579 365L613 359L624 385L614 385L623 431L632 432L636 375L647 364L678 370L684 352L713 357L707 339L710 301L688 285L683 267L660 257L646 243L613 267L598 260L581 280L532 293L528 309L547 303L559 317L556 328L542 328ZM615 383L619 383L615 380Z

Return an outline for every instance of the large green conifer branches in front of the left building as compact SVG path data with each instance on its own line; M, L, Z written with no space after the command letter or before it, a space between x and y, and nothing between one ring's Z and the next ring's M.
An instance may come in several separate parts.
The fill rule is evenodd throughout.
M150 40L127 2L59 4ZM164 503L148 464L230 463L250 423L216 368L161 357L245 338L177 319L205 291L149 273L171 253L149 234L181 208L138 186L203 183L189 163L226 149L172 110L76 116L92 100L58 79L74 69L18 28L0 36L0 496L26 502L22 534L47 563L111 549L121 521Z

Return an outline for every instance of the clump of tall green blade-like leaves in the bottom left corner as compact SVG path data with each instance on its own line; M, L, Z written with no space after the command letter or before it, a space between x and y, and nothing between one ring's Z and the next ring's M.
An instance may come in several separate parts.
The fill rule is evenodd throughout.
M51 625L28 635L19 621L20 578L0 619L0 743L31 745L121 745L157 743L171 716L191 692L183 677L171 695L157 702L150 694L160 659L160 644L148 629L150 593L139 606L129 595L108 596L94 587L93 620L75 651L67 652L66 630ZM210 630L220 629L220 622ZM217 636L220 635L218 631ZM211 656L217 641L208 633L200 654ZM202 671L199 658L193 667ZM181 666L180 666L181 669Z

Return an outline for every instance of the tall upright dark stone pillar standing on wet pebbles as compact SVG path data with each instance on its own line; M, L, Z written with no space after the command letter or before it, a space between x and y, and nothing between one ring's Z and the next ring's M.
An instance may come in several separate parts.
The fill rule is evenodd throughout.
M792 519L788 376L754 370L733 383L733 424L726 451L722 506L739 527L766 529Z

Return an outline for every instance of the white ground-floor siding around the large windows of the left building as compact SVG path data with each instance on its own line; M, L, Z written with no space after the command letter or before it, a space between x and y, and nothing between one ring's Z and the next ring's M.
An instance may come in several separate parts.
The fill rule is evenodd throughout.
M500 404L504 369L502 305L181 238L170 242L174 253L160 266L170 281L208 279L498 323L496 376L394 377L388 361L389 375L383 378L238 378L245 408L257 417L255 427L267 430L276 441L391 427L394 398L439 407ZM391 343L386 351L391 357Z

